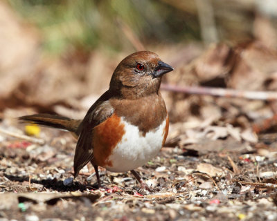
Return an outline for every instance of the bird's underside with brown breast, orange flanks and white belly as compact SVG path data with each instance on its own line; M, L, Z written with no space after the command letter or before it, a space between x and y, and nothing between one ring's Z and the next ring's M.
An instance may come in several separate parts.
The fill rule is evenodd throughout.
M136 169L157 155L166 140L166 106L160 95L110 103L114 114L93 128L93 161L114 172Z

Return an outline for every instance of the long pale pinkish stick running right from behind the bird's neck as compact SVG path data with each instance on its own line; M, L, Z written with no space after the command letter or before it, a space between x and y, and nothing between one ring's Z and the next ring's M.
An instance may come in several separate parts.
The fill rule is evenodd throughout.
M238 97L245 99L276 100L277 93L274 91L247 91L225 88L209 88L202 86L181 87L177 85L161 84L161 89L178 93L188 93L195 95L212 95L217 97Z

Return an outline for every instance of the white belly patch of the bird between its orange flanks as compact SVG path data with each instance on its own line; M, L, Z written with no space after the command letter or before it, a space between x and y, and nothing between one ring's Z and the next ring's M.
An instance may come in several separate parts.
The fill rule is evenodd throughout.
M143 166L156 156L161 150L166 128L165 120L161 126L143 136L139 133L137 126L133 126L123 119L121 120L125 126L125 135L123 135L122 142L117 144L109 156L113 166L106 167L108 171L112 172L131 171Z

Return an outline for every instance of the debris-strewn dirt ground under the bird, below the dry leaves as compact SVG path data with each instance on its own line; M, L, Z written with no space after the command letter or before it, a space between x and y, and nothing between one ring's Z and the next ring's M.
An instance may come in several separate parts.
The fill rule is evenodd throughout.
M0 126L24 130L5 119ZM45 144L0 133L0 220L277 219L276 142L252 145L227 137L186 148L168 142L136 170L151 186L148 192L131 173L105 169L105 188L95 189L91 165L72 181L75 139L49 128L41 137Z

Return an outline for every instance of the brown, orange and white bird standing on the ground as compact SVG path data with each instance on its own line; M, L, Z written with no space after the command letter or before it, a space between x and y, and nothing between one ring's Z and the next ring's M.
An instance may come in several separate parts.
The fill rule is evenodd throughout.
M89 108L84 119L35 114L19 120L71 131L78 137L74 177L91 162L98 188L101 166L111 172L131 171L141 188L149 189L134 169L155 157L166 142L169 118L159 88L163 75L172 70L154 52L134 52L120 61L109 89Z

